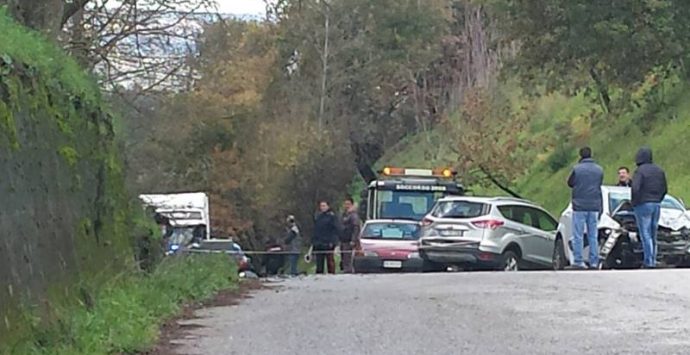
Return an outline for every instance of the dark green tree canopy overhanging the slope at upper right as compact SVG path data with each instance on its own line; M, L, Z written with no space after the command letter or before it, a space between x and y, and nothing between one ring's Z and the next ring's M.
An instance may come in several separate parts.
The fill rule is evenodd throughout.
M512 64L525 86L536 78L572 92L593 80L606 94L609 85L630 88L688 58L690 6L682 0L485 2L502 40L519 43Z

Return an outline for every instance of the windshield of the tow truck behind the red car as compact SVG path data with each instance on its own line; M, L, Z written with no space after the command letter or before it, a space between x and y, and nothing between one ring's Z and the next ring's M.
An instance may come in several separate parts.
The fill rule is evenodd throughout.
M438 191L379 191L376 201L378 218L419 221L442 195Z

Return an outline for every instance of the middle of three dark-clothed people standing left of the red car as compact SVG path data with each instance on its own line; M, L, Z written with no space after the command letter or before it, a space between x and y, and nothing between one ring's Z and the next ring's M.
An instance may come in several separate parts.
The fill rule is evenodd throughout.
M316 273L323 274L324 262L327 264L328 273L335 274L335 259L333 258L336 243L339 237L339 221L328 202L319 202L319 212L314 218L314 236L312 247L316 259Z

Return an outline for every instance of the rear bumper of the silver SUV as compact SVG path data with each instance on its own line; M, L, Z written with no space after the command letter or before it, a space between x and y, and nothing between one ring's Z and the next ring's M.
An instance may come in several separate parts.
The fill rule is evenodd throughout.
M478 246L421 246L419 255L424 259L446 265L477 265L496 267L501 255L479 250Z

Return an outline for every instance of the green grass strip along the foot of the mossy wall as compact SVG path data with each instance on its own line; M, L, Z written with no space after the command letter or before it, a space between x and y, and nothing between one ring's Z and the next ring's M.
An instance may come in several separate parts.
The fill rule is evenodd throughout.
M114 354L150 350L160 324L189 302L236 286L225 255L167 258L152 274L123 274L95 291L89 302L51 304L54 318L30 313L28 332L3 344L7 354Z

